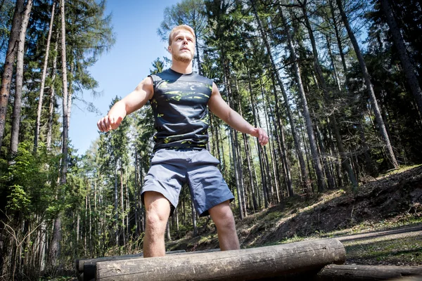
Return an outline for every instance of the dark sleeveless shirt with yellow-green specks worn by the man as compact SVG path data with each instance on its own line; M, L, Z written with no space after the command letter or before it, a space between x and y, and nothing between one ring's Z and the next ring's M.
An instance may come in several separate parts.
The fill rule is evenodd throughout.
M172 69L150 77L154 86L150 102L157 130L154 151L160 148L206 148L207 103L212 93L212 80Z

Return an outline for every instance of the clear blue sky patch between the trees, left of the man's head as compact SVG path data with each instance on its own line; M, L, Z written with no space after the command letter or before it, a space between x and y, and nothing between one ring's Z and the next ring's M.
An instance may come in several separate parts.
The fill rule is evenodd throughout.
M115 96L124 97L149 74L156 58L170 57L167 44L158 37L157 29L163 20L164 9L177 0L108 0L107 13L112 13L116 42L113 48L99 58L89 70L98 81L101 96L93 98L83 93L82 98L94 103L106 115ZM70 118L69 136L79 155L89 149L98 138L96 122L102 115L86 110L86 105L75 100Z

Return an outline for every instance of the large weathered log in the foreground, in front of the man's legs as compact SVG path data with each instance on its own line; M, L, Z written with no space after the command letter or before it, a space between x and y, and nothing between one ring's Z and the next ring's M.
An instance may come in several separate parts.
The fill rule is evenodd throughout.
M96 280L254 280L320 270L345 261L338 240L311 240L276 246L97 263ZM316 271L318 271L316 270Z

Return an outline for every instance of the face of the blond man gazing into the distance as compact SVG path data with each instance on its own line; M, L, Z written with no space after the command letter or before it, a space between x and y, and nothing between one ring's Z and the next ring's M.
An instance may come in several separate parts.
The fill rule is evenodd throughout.
M174 60L190 63L195 54L195 39L193 39L191 32L178 30L174 34L172 45L169 46L169 52Z

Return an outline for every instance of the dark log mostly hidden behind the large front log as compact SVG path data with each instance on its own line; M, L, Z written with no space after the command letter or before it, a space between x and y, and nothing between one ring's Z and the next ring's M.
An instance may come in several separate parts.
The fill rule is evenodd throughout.
M185 250L167 251L166 254L182 254L186 253ZM129 254L124 256L103 256L96 259L84 259L77 260L77 273L84 273L82 277L79 277L79 281L91 281L95 279L96 274L96 263L99 261L120 261L126 259L140 259L143 258L143 253Z

